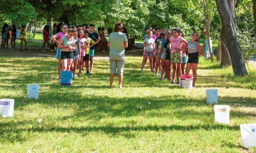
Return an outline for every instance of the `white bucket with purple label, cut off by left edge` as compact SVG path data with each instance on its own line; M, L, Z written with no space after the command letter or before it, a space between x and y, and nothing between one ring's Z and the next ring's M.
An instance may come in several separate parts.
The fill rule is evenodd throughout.
M13 117L14 99L0 99L0 115Z

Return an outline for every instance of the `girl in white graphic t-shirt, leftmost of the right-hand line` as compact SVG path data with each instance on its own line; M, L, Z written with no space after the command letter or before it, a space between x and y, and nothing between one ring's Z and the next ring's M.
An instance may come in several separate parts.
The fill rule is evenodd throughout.
M151 69L151 72L153 72L153 55L154 55L154 49L155 49L155 39L152 38L153 32L148 31L147 32L147 38L144 39L143 42L143 60L141 63L141 70L140 72L143 73L144 64L147 62L147 58L149 59L149 66Z

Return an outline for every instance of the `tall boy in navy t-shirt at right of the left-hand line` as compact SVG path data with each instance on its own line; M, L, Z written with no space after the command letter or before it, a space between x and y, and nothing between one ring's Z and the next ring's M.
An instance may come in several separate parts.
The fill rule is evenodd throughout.
M101 38L96 32L94 32L94 27L95 26L93 24L90 24L89 37L94 40L95 44L97 44L101 40ZM90 74L93 74L93 56L94 56L94 46L90 47Z

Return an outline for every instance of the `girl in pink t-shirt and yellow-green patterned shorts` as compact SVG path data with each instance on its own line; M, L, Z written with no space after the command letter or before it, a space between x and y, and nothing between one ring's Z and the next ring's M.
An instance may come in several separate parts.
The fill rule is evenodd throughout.
M172 76L172 83L174 84L175 77L176 77L176 71L178 71L178 77L181 75L181 63L182 63L182 54L181 54L181 44L185 43L186 45L188 42L179 36L180 34L180 29L179 28L174 28L173 29L173 36L169 40L169 50L171 52L171 62L173 66L173 76ZM177 82L176 84L180 84Z

